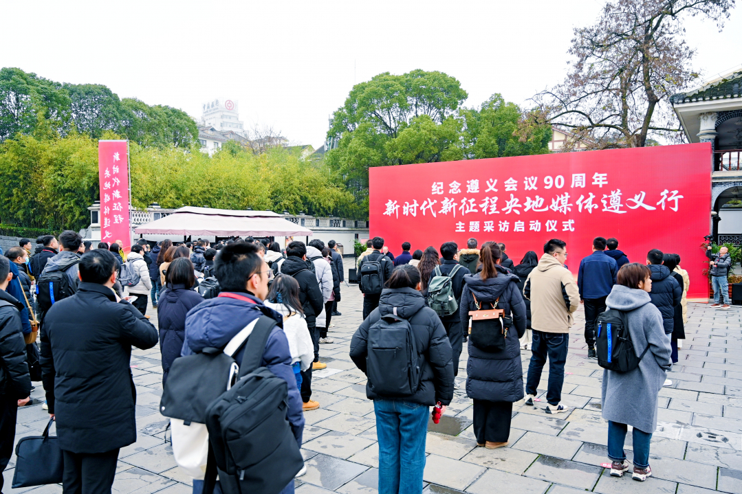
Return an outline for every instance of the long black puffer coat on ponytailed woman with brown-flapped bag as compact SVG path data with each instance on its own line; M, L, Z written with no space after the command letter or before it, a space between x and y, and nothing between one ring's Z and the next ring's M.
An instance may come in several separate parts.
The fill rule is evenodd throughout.
M464 277L464 283L462 327L468 327L469 311L476 310L472 292L480 303L494 303L499 297L497 308L513 317L513 327L508 331L502 352L485 352L473 346L469 338L467 395L475 400L518 401L524 396L518 338L525 333L525 303L518 290L518 277L501 273L495 278L482 280L481 274L473 274ZM489 307L489 304L485 306L487 309Z

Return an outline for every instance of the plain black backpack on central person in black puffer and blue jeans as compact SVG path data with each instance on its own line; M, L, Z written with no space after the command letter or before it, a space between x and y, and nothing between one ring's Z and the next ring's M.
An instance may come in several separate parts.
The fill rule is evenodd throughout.
M422 372L410 321L384 315L369 328L367 345L366 374L373 392L387 396L417 392Z

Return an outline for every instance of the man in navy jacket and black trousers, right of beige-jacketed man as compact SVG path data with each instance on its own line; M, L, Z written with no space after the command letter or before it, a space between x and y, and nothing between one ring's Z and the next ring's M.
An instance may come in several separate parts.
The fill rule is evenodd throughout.
M595 323L605 311L605 297L616 284L618 266L616 261L605 255L606 240L595 237L593 253L580 261L577 274L577 288L580 289L580 302L585 304L585 343L588 343L588 358L597 358L595 353Z

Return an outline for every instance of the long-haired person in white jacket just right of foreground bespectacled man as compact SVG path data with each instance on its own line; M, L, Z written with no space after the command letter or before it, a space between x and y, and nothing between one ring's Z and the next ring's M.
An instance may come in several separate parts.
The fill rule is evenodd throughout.
M299 282L287 274L278 274L271 284L270 292L264 302L276 312L283 314L283 332L289 340L291 365L294 368L296 385L301 389L301 373L312 366L315 348L306 327L306 319L299 300Z

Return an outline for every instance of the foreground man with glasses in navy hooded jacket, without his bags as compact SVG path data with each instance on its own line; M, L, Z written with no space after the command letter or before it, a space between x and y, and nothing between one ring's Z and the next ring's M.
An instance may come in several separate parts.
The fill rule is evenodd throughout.
M301 447L304 416L291 366L289 341L281 329L283 316L263 305L263 300L268 297L269 271L268 265L258 256L254 243L237 241L222 248L214 260L214 275L221 292L218 297L204 300L188 312L181 355L192 355L207 346L224 348L234 335L263 314L275 319L276 326L268 337L260 366L286 381L289 389L287 418ZM241 362L242 352L240 349L234 360ZM293 481L286 489L284 492L293 492Z

